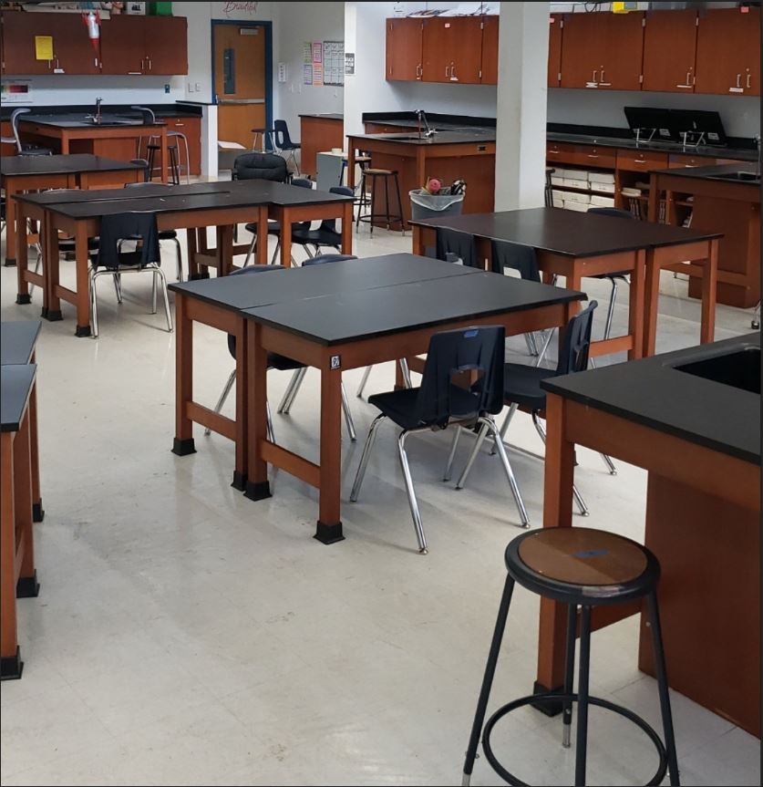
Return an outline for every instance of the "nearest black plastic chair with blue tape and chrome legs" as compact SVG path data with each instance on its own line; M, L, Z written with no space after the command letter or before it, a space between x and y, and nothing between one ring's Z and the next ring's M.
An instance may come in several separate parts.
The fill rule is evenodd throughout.
M369 403L381 412L368 430L350 500L357 501L376 430L384 419L393 420L401 429L397 437L397 452L416 529L418 551L421 554L428 552L427 539L421 524L406 452L408 435L417 432L443 430L451 425L472 429L479 425L493 434L511 492L520 511L522 526L527 527L529 524L509 458L498 437L498 427L493 419L493 415L499 413L503 407L504 337L502 326L460 328L435 334L429 341L427 364L419 388L389 391L368 399ZM451 377L454 374L471 370L478 371L480 378L470 390L453 384Z

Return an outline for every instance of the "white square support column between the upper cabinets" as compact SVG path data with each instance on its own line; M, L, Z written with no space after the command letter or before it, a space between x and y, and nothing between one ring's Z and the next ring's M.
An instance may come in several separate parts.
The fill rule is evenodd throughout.
M500 3L495 209L543 205L549 4Z

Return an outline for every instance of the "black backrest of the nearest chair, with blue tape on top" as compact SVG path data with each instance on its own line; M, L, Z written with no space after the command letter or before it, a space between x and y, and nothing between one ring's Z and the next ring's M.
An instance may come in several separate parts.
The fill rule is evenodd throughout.
M422 424L444 429L452 416L499 413L503 408L503 326L481 326L441 331L429 340L427 363L416 400ZM468 412L454 412L453 375L477 370L480 378L470 391ZM463 409L463 408L461 408Z

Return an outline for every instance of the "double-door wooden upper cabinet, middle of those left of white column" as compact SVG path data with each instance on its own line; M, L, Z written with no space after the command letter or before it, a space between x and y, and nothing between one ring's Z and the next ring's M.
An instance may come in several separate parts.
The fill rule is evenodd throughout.
M445 16L424 20L425 82L479 85L482 26L479 16Z

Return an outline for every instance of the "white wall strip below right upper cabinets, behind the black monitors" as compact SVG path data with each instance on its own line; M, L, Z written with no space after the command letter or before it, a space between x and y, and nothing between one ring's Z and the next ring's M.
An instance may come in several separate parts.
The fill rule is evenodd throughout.
M621 90L549 90L549 122L586 123L627 129L624 107L709 109L718 112L726 133L752 137L760 132L760 98Z

